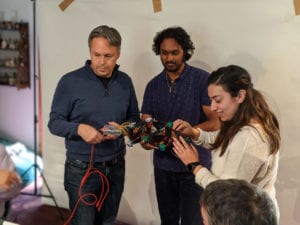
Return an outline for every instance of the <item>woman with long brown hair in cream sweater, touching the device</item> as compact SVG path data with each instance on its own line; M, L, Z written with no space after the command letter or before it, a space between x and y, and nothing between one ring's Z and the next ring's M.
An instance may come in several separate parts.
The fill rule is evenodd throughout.
M211 149L211 169L201 166L198 152L182 137L174 139L174 152L203 188L212 181L230 178L260 186L270 195L279 217L274 187L280 146L276 116L253 88L249 73L239 66L214 71L208 78L208 95L211 110L221 121L219 131L203 131L182 120L174 121L173 128L190 136L194 144Z

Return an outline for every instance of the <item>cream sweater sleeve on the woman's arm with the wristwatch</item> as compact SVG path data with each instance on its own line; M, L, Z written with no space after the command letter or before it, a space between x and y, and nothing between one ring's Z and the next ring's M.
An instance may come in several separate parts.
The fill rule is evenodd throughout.
M203 188L218 179L236 178L251 182L265 169L263 164L269 158L269 145L257 129L247 126L235 135L222 156L219 156L219 149L212 154L212 171L201 168L195 176L196 183Z

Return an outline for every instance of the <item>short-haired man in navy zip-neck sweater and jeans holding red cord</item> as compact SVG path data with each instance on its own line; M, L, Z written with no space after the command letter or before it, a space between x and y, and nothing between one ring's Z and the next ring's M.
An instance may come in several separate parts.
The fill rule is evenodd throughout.
M65 138L64 185L69 207L76 210L71 224L113 225L124 188L126 150L123 136L103 135L101 128L112 121L137 121L139 109L131 78L116 64L121 50L119 32L106 25L96 27L88 44L91 59L64 75L56 87L48 127L52 134ZM91 157L93 168L110 184L103 205L101 201L91 205L95 201L91 195L100 196L105 185L97 176L100 173L86 174ZM77 206L79 190L89 196Z

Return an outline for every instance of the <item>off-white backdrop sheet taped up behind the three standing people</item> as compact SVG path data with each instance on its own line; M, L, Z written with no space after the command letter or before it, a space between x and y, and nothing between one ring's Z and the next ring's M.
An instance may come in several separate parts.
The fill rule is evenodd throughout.
M60 0L37 1L41 51L45 176L60 206L63 189L63 139L47 129L50 104L60 77L89 57L87 38L107 24L122 37L121 70L131 75L139 105L146 83L162 69L152 52L156 32L184 27L196 51L191 65L212 71L238 64L252 74L277 114L282 131L277 198L281 224L300 224L300 17L292 0L162 0L154 13L151 0L76 0L64 12ZM128 148L125 191L118 219L132 225L158 225L152 154L138 145ZM45 190L46 191L46 190ZM50 199L44 200L52 204Z

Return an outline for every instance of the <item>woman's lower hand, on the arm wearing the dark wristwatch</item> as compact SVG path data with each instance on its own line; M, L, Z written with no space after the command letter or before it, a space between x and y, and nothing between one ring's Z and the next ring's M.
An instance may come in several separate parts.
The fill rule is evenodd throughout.
M188 144L181 136L179 139L173 138L173 150L184 165L199 162L197 149L192 144Z

